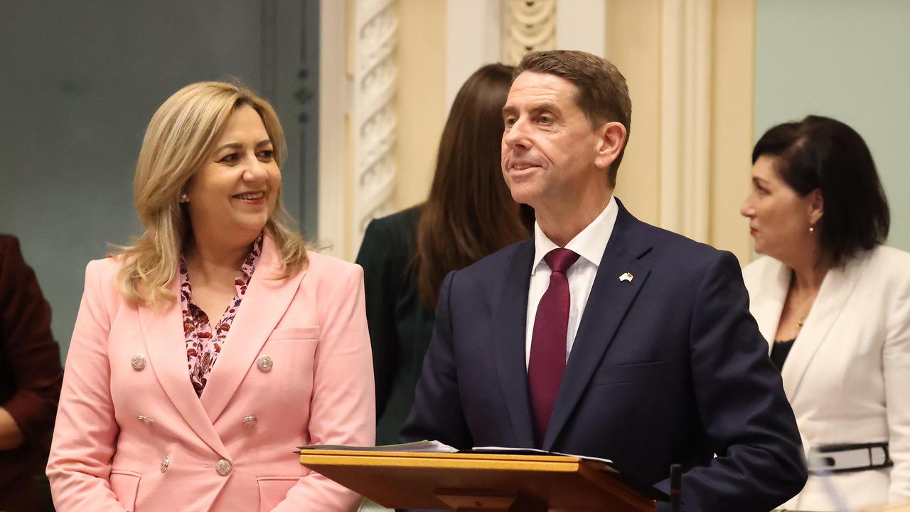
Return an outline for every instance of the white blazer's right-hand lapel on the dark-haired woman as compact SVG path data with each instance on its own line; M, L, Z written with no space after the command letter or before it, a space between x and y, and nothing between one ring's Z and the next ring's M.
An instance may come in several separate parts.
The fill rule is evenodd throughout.
M822 288L806 317L803 329L796 337L796 342L790 353L787 354L786 363L782 372L784 377L784 392L791 401L799 391L803 382L806 369L812 363L828 333L834 326L834 320L840 316L847 299L853 293L856 282L859 281L861 265L856 259L849 261L844 268L831 269L824 276Z

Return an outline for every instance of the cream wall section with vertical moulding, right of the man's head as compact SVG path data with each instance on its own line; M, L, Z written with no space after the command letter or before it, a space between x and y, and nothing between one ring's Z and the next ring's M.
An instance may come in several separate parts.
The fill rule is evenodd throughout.
M610 0L607 58L632 95L617 197L642 220L750 255L753 0Z

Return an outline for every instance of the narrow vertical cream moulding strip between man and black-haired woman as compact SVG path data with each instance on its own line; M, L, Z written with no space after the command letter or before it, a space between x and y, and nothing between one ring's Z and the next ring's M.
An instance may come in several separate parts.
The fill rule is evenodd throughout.
M661 226L711 232L713 0L662 3Z

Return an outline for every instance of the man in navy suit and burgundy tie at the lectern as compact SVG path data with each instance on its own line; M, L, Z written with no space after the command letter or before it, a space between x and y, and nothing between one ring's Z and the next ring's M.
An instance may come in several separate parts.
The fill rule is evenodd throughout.
M664 491L678 463L684 510L794 496L800 436L736 258L612 195L625 79L571 51L531 53L515 73L502 173L534 208L534 238L443 282L402 437L605 457Z

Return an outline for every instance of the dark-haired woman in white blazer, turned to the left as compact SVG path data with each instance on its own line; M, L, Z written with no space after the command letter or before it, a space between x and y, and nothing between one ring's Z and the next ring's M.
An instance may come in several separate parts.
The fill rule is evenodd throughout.
M882 245L869 148L810 116L763 135L752 180L741 213L767 257L743 277L812 474L784 507L910 501L910 254Z

